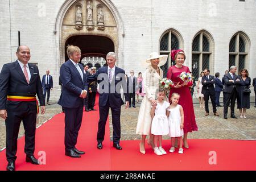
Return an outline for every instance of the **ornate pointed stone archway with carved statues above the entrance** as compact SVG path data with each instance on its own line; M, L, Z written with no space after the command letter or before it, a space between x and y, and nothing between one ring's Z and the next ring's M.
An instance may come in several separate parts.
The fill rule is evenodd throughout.
M123 22L109 0L65 1L57 15L54 33L59 66L65 61L65 42L74 35L98 35L111 39L117 53L117 64L121 67L123 65Z

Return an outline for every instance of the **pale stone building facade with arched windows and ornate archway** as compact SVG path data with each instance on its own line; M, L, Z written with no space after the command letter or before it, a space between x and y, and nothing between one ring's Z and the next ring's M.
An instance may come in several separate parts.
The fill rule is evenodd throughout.
M152 51L181 48L196 77L204 68L223 75L233 64L256 77L254 0L2 0L0 10L0 69L15 61L20 41L54 85L68 44L79 46L82 58L114 51L118 66L135 75ZM171 62L169 56L165 71Z

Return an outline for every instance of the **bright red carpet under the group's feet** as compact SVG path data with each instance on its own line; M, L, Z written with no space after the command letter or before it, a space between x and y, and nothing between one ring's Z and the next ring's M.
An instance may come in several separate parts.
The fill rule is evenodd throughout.
M98 111L84 112L76 146L86 152L81 158L64 155L64 114L57 114L36 130L35 156L39 158L38 152L45 151L46 164L36 166L25 162L22 137L18 140L16 170L256 170L255 140L189 139L190 148L185 149L182 155L176 150L174 154L167 152L167 155L156 156L149 146L146 146L146 154L143 155L139 153L138 140L121 141L122 151L113 148L107 123L103 149L98 150L98 117ZM164 140L163 147L168 151L170 141ZM217 164L209 164L210 151L216 152ZM5 170L6 165L3 150L0 152L0 170Z

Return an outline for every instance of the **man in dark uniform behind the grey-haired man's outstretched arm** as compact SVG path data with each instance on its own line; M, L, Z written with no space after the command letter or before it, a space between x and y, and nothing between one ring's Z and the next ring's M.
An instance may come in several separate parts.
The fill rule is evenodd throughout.
M92 67L90 69L92 69L92 75L94 75L96 73L96 67ZM89 84L89 110L96 110L94 109L94 105L96 100L97 86L97 80L92 81Z

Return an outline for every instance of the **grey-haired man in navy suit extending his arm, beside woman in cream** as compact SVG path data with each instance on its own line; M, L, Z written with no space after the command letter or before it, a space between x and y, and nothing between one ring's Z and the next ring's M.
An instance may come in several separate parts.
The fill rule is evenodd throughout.
M106 55L106 61L108 67L99 68L96 74L88 77L88 81L98 80L100 88L98 104L100 107L100 120L98 121L97 148L102 149L110 107L112 111L113 147L117 148L117 150L122 150L122 147L119 145L121 138L120 114L121 106L124 104L120 94L121 86L125 94L126 108L129 106L125 71L115 66L117 59L114 52L109 52Z

